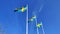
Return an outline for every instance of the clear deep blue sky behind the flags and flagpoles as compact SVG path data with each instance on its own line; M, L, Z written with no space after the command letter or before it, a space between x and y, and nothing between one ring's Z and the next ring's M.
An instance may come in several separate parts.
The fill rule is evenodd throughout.
M29 18L36 12L46 34L60 34L60 0L0 0L0 24L4 34L25 34L26 12L14 13L14 9L26 4L29 5ZM42 34L41 28L39 31ZM36 34L35 22L29 22L29 34Z

